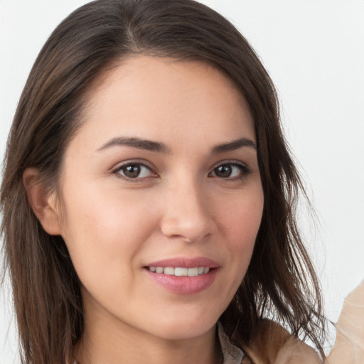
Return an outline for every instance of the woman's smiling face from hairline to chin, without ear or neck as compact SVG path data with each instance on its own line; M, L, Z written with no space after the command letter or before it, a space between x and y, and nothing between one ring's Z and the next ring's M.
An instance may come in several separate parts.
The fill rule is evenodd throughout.
M210 65L140 56L103 78L84 117L58 213L86 331L97 317L159 338L203 335L242 281L262 217L247 103Z

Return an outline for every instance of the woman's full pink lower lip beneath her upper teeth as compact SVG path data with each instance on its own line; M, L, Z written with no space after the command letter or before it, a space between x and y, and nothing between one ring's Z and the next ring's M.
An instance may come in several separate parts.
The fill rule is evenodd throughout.
M151 272L149 269L146 269L146 272L154 282L168 289L168 291L176 294L197 294L200 291L208 289L213 284L218 269L210 269L210 272L200 274L196 277L177 277L174 275L159 274Z

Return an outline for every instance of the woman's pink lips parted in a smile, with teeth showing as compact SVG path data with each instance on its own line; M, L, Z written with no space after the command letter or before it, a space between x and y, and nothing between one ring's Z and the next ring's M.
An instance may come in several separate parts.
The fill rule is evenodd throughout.
M174 294L197 294L213 284L219 264L212 259L174 258L151 262L145 268L149 277Z

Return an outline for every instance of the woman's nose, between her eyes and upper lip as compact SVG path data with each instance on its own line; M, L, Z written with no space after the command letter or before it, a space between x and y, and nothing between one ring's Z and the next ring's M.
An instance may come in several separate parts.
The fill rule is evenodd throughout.
M202 186L188 181L175 184L164 201L161 231L167 237L186 242L203 240L213 232L210 201Z

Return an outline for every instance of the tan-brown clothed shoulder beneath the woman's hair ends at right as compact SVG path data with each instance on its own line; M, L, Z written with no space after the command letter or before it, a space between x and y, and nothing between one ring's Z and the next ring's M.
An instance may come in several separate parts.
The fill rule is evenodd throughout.
M273 321L264 320L259 333L243 346L242 364L319 364L316 351Z

